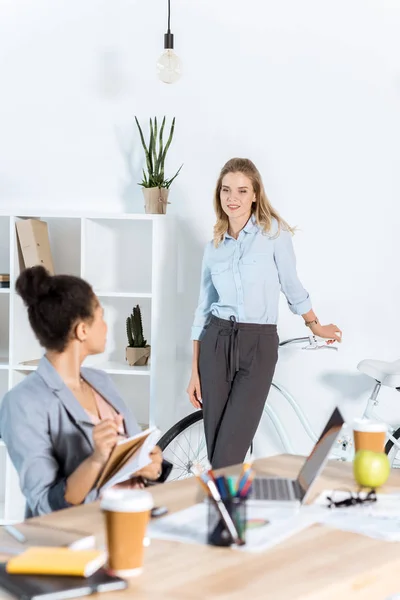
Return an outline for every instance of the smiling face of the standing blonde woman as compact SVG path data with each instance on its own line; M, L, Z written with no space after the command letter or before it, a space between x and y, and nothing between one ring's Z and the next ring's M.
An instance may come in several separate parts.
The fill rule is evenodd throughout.
M248 218L256 201L251 180L243 173L228 173L222 179L220 200L229 219Z

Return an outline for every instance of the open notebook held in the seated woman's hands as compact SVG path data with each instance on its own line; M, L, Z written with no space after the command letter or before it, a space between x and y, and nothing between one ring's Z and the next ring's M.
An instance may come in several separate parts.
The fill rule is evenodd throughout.
M160 430L150 427L130 438L120 440L110 454L97 481L97 489L106 489L130 479L151 463L150 452L160 437Z

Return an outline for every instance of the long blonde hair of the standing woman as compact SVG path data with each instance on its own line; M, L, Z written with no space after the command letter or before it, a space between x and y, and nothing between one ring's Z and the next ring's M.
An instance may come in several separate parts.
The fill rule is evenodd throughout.
M261 175L254 163L248 158L231 158L222 167L214 192L214 210L217 216L217 222L214 225L214 246L216 248L224 239L229 226L228 215L222 210L220 198L222 180L228 173L242 173L250 179L256 196L256 201L252 204L251 214L255 216L257 225L262 229L263 233L268 233L271 230L273 219L276 219L278 223L276 236L279 235L281 229L290 231L292 234L294 233L294 228L290 227L270 204L264 190Z

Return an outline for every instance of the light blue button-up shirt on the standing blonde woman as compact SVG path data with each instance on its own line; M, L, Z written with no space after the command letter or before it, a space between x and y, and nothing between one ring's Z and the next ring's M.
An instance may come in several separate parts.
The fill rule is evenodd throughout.
M290 310L303 315L311 300L296 272L292 234L274 220L265 234L252 217L235 240L226 234L218 248L209 242L201 269L199 303L192 327L192 340L200 340L210 316L242 323L277 323L279 293L285 294Z

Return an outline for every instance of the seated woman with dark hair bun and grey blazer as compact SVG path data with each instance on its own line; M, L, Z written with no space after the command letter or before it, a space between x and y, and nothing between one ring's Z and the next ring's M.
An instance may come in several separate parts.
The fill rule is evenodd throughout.
M46 350L37 370L10 390L0 407L0 434L30 517L96 500L96 480L118 436L134 435L140 427L111 378L81 368L106 344L103 309L91 286L37 266L21 273L16 290ZM132 485L166 478L171 465L157 446L151 459Z

